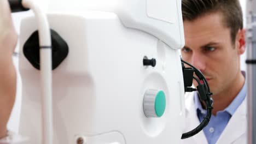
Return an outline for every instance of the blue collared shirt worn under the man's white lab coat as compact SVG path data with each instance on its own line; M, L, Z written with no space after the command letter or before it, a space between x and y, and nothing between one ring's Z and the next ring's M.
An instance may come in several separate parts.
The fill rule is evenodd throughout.
M241 91L238 93L236 98L232 101L232 103L226 107L223 111L218 111L216 116L212 115L211 120L208 125L203 128L203 133L205 133L206 139L209 144L214 144L219 139L223 130L229 122L229 119L232 115L234 115L236 109L241 105L242 101L246 97L246 84L243 85ZM197 93L194 95L195 107L197 112L197 117L200 122L202 119L206 117L206 110L202 108L199 97ZM213 101L214 103L214 101Z

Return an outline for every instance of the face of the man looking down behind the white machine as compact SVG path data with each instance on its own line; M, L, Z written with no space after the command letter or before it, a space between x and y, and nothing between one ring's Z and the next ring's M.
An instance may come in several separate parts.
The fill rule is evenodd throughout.
M238 36L232 43L230 28L224 26L222 14L212 13L194 21L185 20L184 34L182 57L205 75L213 95L234 86L240 73L240 55L244 51L239 48L241 41ZM197 86L195 80L193 83Z

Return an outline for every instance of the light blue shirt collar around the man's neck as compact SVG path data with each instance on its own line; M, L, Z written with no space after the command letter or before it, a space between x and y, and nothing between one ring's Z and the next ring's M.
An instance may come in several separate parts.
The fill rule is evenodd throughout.
M245 71L242 71L242 74L243 74L243 76L245 76ZM241 91L237 94L236 98L223 111L228 112L231 116L234 115L236 109L238 108L238 106L241 105L241 103L243 102L245 97L246 97L246 82L243 84L243 87L242 87ZM194 94L194 102L195 102L196 110L200 110L201 113L206 113L206 110L202 108L202 105L201 105L201 102L200 102L197 92ZM214 103L214 101L213 101L213 103Z

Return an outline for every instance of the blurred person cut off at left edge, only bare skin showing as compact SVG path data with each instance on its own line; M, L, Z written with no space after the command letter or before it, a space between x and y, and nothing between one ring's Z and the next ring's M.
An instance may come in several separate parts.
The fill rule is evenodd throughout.
M0 143L8 137L7 122L16 95L16 71L12 56L17 39L8 1L0 0Z

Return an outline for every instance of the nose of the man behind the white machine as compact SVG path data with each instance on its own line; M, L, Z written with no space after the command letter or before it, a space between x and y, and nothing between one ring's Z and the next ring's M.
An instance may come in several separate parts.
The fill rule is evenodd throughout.
M205 59L200 55L200 53L193 53L191 57L191 64L200 71L204 71L206 68Z

